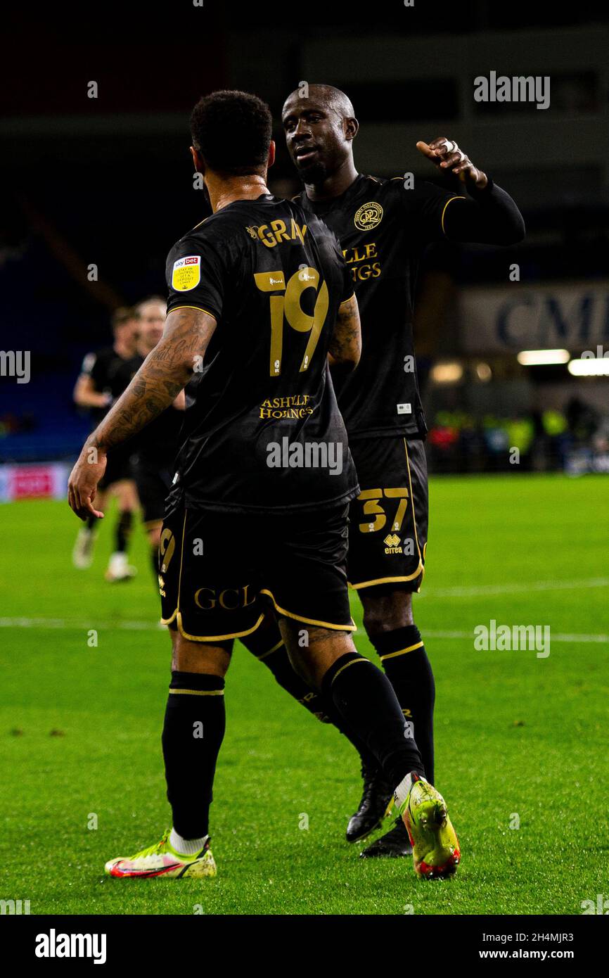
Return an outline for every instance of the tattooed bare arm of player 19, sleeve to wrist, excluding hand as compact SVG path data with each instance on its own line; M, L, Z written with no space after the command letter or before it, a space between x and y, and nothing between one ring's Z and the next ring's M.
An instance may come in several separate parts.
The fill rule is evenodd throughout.
M107 451L157 418L192 378L215 328L215 319L198 309L169 313L158 344L86 444Z

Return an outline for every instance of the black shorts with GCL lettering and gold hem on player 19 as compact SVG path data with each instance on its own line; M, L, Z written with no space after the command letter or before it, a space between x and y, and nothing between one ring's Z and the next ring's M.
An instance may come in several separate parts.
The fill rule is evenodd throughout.
M269 606L306 625L355 631L348 512L348 504L282 516L178 506L160 536L161 620L209 643L254 632Z

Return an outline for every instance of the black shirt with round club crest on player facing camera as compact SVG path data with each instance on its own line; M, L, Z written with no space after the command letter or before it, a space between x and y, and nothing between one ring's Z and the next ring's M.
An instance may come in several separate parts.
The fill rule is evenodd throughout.
M402 177L359 174L338 198L296 200L335 233L351 271L362 321L362 359L336 382L349 438L426 432L416 378L413 300L420 254L443 237L449 200L458 195L427 182L406 189Z

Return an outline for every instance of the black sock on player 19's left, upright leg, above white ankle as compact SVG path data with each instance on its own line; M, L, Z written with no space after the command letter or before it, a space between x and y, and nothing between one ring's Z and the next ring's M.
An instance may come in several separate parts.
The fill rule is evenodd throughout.
M207 835L225 726L224 680L207 673L172 672L162 745L173 827L184 839Z

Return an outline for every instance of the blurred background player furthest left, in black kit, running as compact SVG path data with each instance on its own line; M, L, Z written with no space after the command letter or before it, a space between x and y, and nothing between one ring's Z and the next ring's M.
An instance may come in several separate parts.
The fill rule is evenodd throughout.
M74 402L78 407L88 410L93 427L101 422L139 366L136 361L139 330L137 311L129 307L116 309L112 314L111 327L114 336L112 345L95 353L87 353L74 387ZM131 373L130 366L133 368ZM129 445L121 445L110 453L108 467L98 489L98 499L102 507L108 505L110 495L116 497L118 504L114 550L106 571L107 581L126 581L136 572L127 560L133 514L138 508L130 462L131 452ZM72 562L81 570L90 567L93 560L96 523L95 517L89 518L76 537Z

